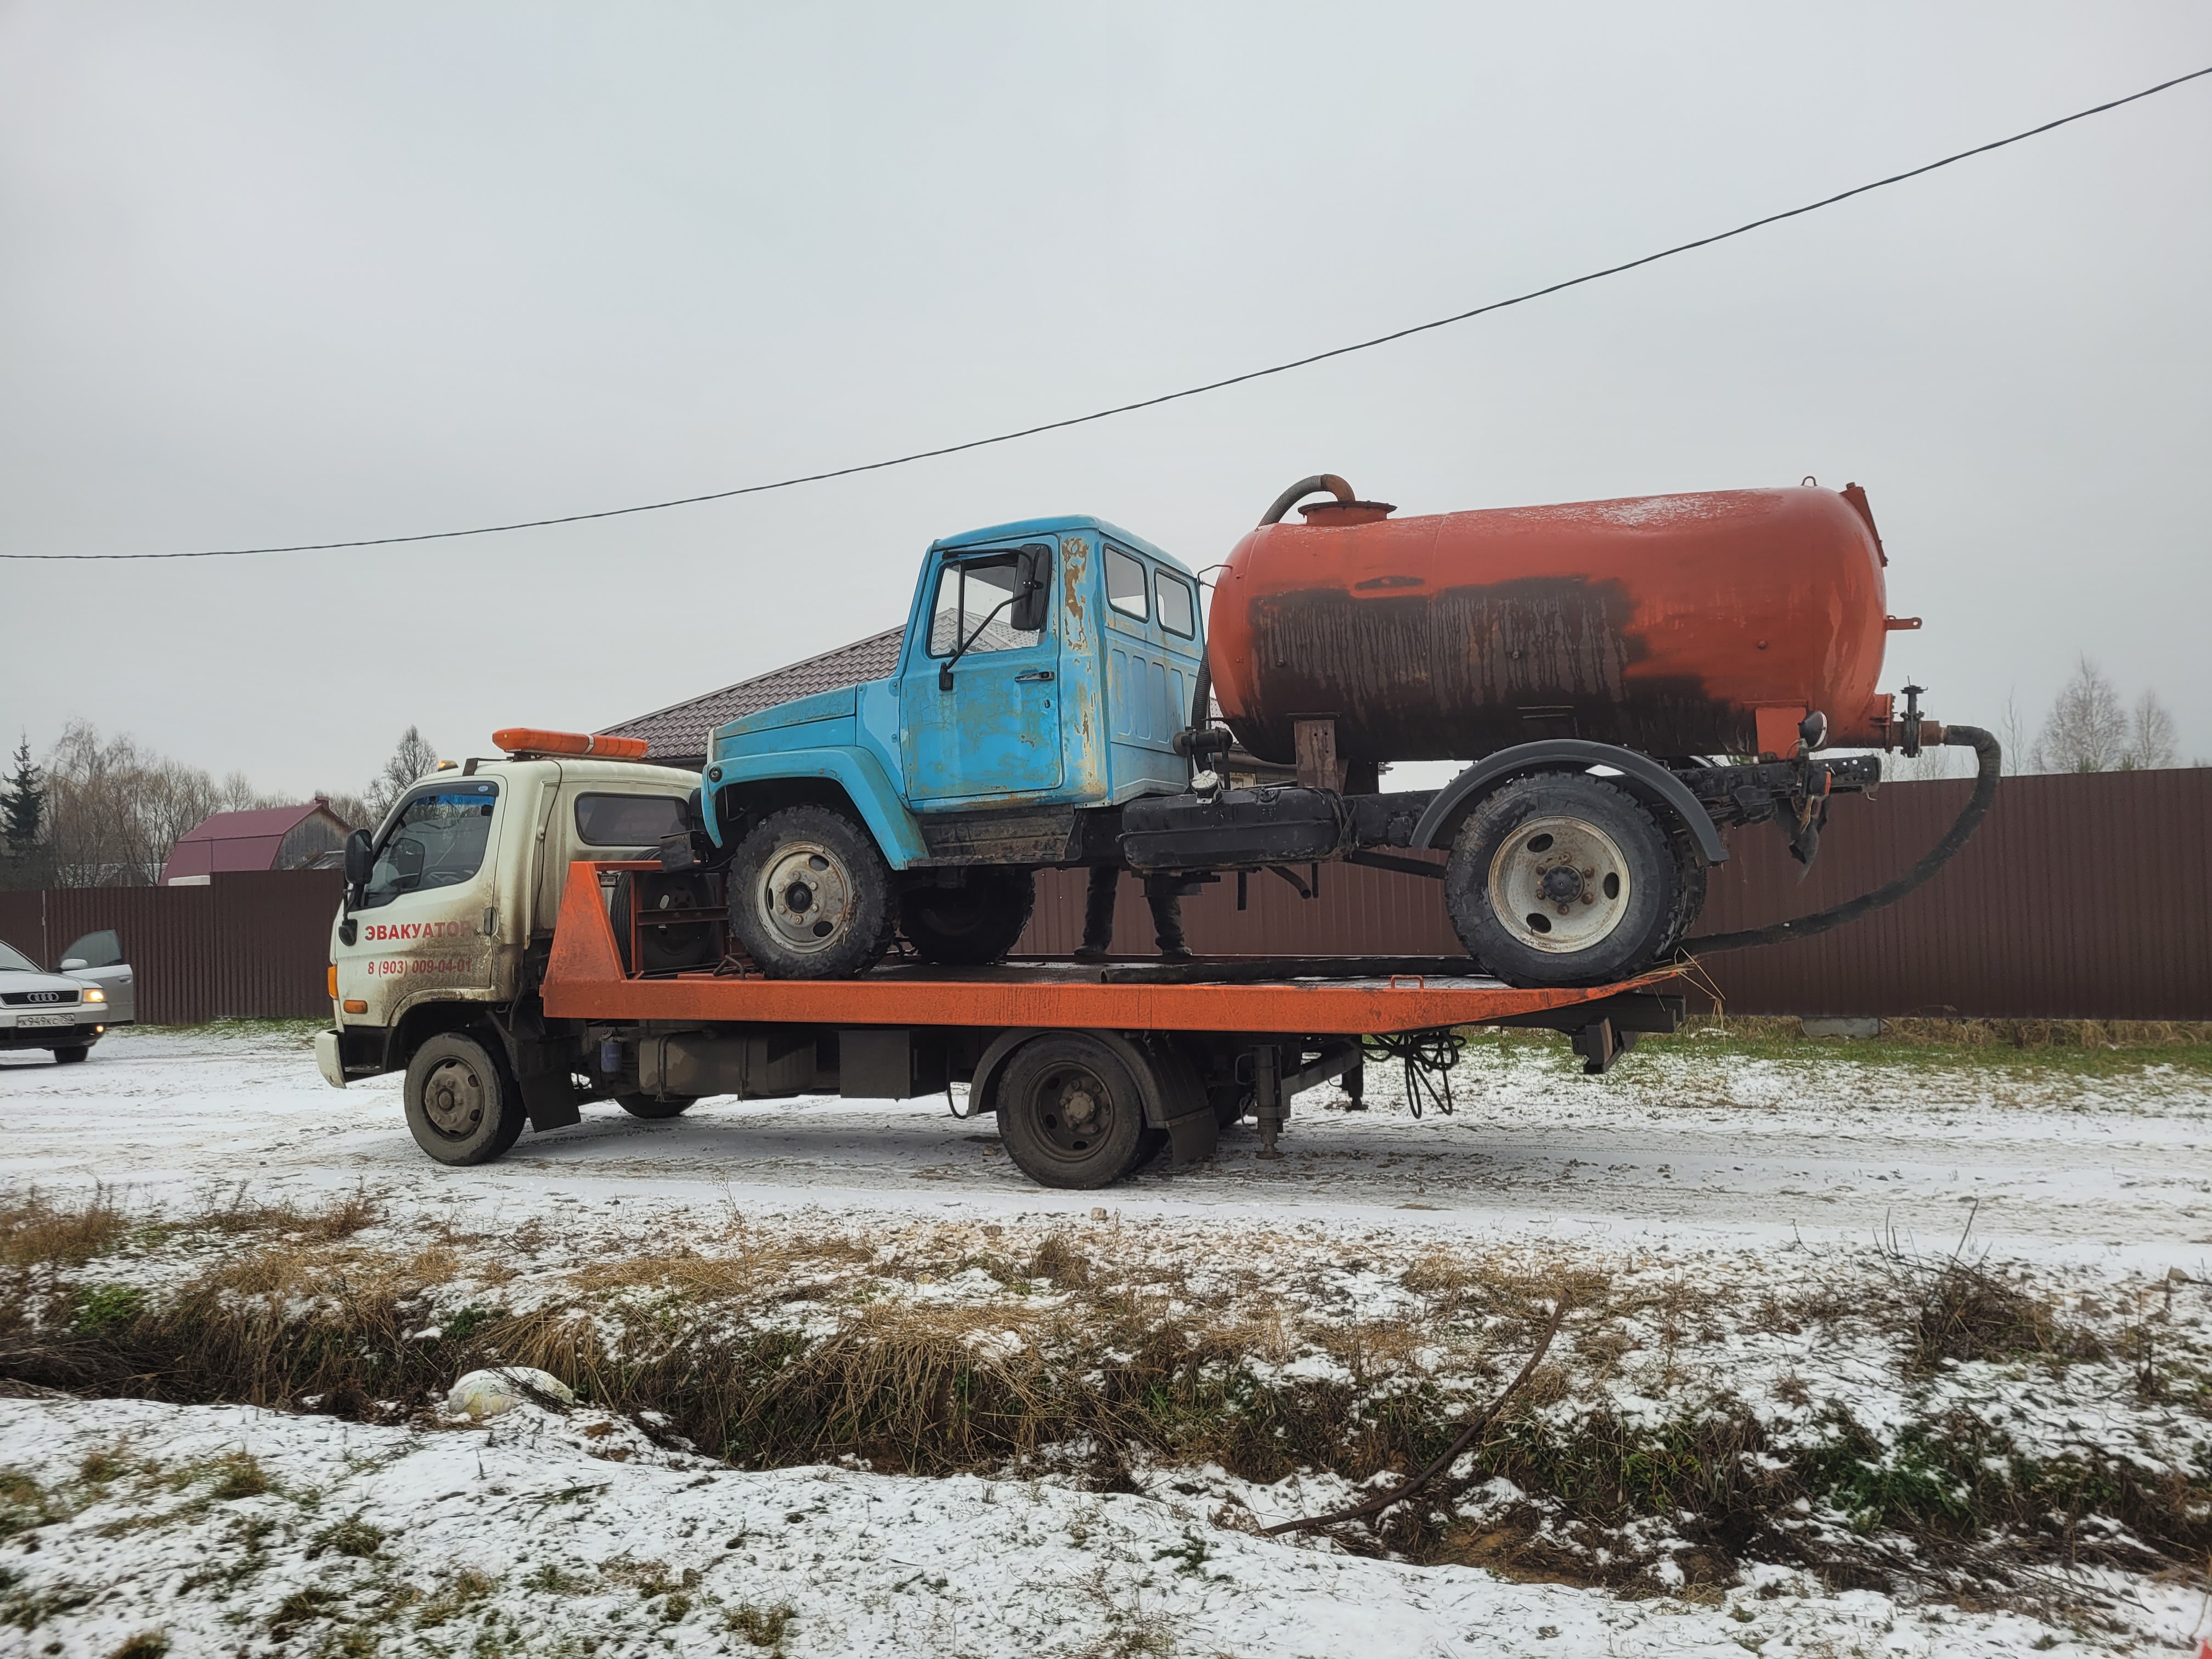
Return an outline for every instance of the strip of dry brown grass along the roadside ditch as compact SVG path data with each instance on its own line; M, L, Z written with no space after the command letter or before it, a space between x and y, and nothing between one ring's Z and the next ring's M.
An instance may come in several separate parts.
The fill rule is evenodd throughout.
M111 1221L66 1210L46 1203L35 1225L53 1239L115 1237ZM602 1411L666 1425L648 1429L655 1438L748 1469L1051 1467L1128 1489L1130 1460L1144 1458L1254 1482L1296 1471L1365 1482L1433 1460L1471 1402L1520 1365L1551 1305L1571 1298L1553 1363L1486 1429L1464 1480L1433 1506L1394 1513L1365 1546L1650 1590L1657 1524L1690 1542L1692 1582L1721 1582L1747 1557L1798 1562L1834 1584L1896 1571L1871 1544L1807 1531L1796 1504L1812 1502L1913 1535L1942 1571L1971 1557L1982 1573L2000 1533L2020 1559L2066 1557L2086 1513L2121 1520L2141 1540L2130 1544L2139 1566L2194 1566L2212 1548L2212 1471L2168 1478L2088 1453L2006 1462L1986 1425L1880 1444L1840 1411L1820 1420L1827 1440L1814 1451L1778 1451L1725 1385L1688 1389L1668 1422L1615 1413L1593 1387L1630 1371L1630 1383L1650 1394L1692 1378L1690 1349L1725 1336L1710 1285L1635 1259L1597 1272L1568 1252L1436 1248L1394 1287L1385 1281L1385 1303L1356 1303L1345 1272L1371 1283L1367 1263L1318 1261L1292 1234L1243 1237L1234 1256L1210 1259L1113 1225L1009 1239L1006 1228L925 1223L863 1241L732 1223L699 1248L597 1252L538 1274L520 1312L471 1303L429 1316L465 1259L473 1285L511 1270L460 1237L392 1250L365 1243L349 1217L319 1237L299 1221L288 1212L221 1234L246 1248L159 1296L117 1301L93 1325L64 1316L75 1287L18 1274L0 1305L0 1378L268 1407L312 1398L321 1411L389 1420L392 1402L431 1409L460 1371L520 1363ZM1871 1279L1863 1267L1825 1290L1745 1292L1725 1318L1736 1329L1858 1321L1893 1332L1907 1369L2097 1354L2086 1327L1984 1265L1891 1254ZM995 1285L949 1287L973 1270ZM1283 1369L1314 1356L1332 1365ZM1794 1376L1774 1394L1816 1409ZM1500 1475L1526 1502L1482 1498ZM323 1540L341 1553L376 1542L336 1526ZM442 1586L422 1615L436 1621L467 1593Z

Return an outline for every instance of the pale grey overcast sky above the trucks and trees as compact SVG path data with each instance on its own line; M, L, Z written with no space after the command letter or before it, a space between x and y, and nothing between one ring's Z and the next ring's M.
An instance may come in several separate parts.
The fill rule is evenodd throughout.
M2203 4L0 2L0 549L617 507L1048 420L1650 252L2212 64ZM1192 566L1407 513L1867 487L1885 686L2079 653L2212 754L2212 80L1161 411L358 553L0 562L0 732L356 790L902 619L936 535Z

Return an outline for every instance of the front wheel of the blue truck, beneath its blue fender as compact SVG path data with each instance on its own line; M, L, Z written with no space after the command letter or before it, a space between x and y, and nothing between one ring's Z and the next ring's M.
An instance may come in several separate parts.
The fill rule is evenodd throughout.
M772 880L781 891L770 891ZM770 812L737 845L723 885L730 933L770 980L849 980L891 949L891 867L867 830L836 807ZM807 887L805 909L783 902L796 887ZM825 889L836 896L834 911ZM807 911L821 914L805 922ZM825 931L810 936L803 927Z

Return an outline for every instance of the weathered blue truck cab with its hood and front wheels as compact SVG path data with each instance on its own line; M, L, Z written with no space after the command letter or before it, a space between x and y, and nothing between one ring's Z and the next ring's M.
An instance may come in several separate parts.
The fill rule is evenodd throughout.
M1117 860L1119 807L1190 785L1199 582L1097 518L933 542L885 679L714 732L703 832L730 925L781 978L863 971L894 931L991 962L1033 872Z

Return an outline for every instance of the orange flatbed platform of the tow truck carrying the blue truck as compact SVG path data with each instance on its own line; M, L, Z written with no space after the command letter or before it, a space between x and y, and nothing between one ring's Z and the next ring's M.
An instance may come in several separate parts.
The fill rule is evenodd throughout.
M989 969L889 964L858 980L768 980L734 973L630 975L599 889L602 872L657 869L575 863L562 894L553 956L542 984L557 1020L639 1020L823 1026L1040 1026L1088 1031L1252 1031L1380 1035L1491 1024L1604 1002L1672 978L1624 984L1517 989L1480 973L1336 978L1316 960L1285 964L1301 978L1245 978L1250 958L1210 958L1232 982L1130 978L1130 964L1009 962ZM1469 960L1469 969L1473 962Z

